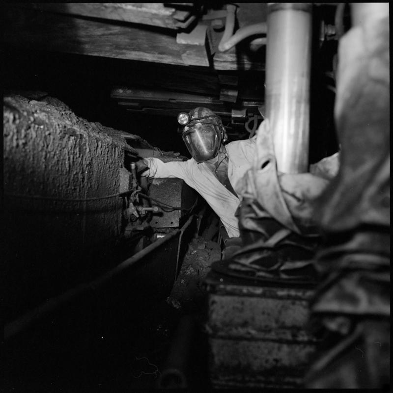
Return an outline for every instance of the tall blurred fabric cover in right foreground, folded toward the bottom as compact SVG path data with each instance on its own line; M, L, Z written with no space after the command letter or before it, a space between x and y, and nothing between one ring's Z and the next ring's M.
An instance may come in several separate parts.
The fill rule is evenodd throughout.
M315 203L326 241L310 304L311 320L336 338L318 350L307 388L390 383L389 40L387 16L351 28L339 42L340 167Z

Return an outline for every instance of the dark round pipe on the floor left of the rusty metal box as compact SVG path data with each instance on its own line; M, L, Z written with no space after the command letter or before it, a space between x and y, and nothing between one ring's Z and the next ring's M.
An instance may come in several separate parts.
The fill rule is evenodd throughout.
M195 331L194 317L183 316L174 333L165 366L158 380L158 388L187 388L187 368Z

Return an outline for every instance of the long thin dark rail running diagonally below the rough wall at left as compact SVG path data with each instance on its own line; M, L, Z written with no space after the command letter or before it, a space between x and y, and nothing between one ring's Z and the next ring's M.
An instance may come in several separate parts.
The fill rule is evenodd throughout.
M98 277L96 280L89 283L81 284L76 288L69 289L63 294L49 299L40 306L28 311L20 318L6 324L4 326L4 341L12 338L17 333L26 330L31 324L38 321L44 315L55 311L58 307L69 303L71 300L78 298L79 296L92 289L97 290L98 288L102 287L103 284L106 284L108 281L112 280L120 273L123 273L125 269L128 269L130 266L139 262L146 255L154 251L156 248L160 247L162 244L166 243L172 237L177 236L179 233L180 229L175 229L174 231L168 233L168 235L166 235L165 237L158 239L154 243L141 250L139 253L133 255L131 258L128 258L125 261L121 262L115 268Z

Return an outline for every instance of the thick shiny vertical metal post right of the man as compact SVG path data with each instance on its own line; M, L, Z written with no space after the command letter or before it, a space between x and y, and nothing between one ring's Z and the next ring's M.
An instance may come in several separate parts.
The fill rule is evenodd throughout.
M266 118L284 173L308 171L311 8L311 3L268 3Z

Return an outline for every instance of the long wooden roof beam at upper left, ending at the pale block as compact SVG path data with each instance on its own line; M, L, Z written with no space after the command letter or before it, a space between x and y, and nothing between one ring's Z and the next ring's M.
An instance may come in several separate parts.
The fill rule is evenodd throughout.
M4 43L53 52L185 65L174 34L20 8L7 8Z

